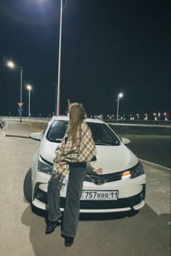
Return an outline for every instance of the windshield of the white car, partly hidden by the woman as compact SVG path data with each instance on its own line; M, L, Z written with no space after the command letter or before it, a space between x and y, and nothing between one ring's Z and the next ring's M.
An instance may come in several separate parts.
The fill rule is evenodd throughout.
M51 124L46 139L52 142L60 142L67 130L67 121L56 120ZM117 136L104 123L87 123L93 134L93 141L96 145L117 146L120 145Z

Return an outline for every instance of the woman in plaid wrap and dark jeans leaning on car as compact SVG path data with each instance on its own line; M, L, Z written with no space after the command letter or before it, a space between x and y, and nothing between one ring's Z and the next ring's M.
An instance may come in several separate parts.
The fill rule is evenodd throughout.
M72 245L78 227L80 197L83 180L86 176L86 162L91 162L96 173L101 174L103 172L96 163L96 146L91 130L84 122L86 112L83 105L71 104L69 117L67 131L55 151L56 158L48 186L49 223L46 226L46 234L50 234L59 225L58 220L62 217L59 208L60 189L64 183L64 178L68 176L62 226L62 236L65 238L64 245L66 247Z

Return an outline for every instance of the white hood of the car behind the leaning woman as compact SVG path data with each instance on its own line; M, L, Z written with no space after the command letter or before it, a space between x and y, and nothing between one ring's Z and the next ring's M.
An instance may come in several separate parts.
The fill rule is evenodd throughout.
M43 157L44 160L52 163L55 157L57 143L47 140L42 142L43 143L41 143L40 147L41 157ZM135 157L135 154L133 154L133 152L131 152L130 149L128 149L128 147L122 143L119 146L96 145L96 149L97 162L99 166L103 168L103 174L127 170L138 163L138 158ZM92 170L89 164L88 170Z

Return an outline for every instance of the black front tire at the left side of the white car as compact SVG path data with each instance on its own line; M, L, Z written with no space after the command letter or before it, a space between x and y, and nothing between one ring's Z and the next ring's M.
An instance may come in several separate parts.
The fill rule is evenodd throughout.
M32 181L31 181L31 168L28 170L28 173L26 173L25 181L24 181L24 195L25 199L28 202L32 202Z

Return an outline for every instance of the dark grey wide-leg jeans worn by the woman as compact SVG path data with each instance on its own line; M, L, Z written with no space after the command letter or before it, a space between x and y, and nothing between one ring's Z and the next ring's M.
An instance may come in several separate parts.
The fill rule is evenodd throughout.
M78 220L80 215L80 197L83 189L83 180L86 176L86 165L83 167L70 165L69 180L67 183L67 197L64 207L64 219L62 226L62 235L75 237ZM59 174L54 178L54 173L51 174L51 179L48 186L48 210L49 220L56 221L62 216L59 208L60 190L62 188L62 176Z

